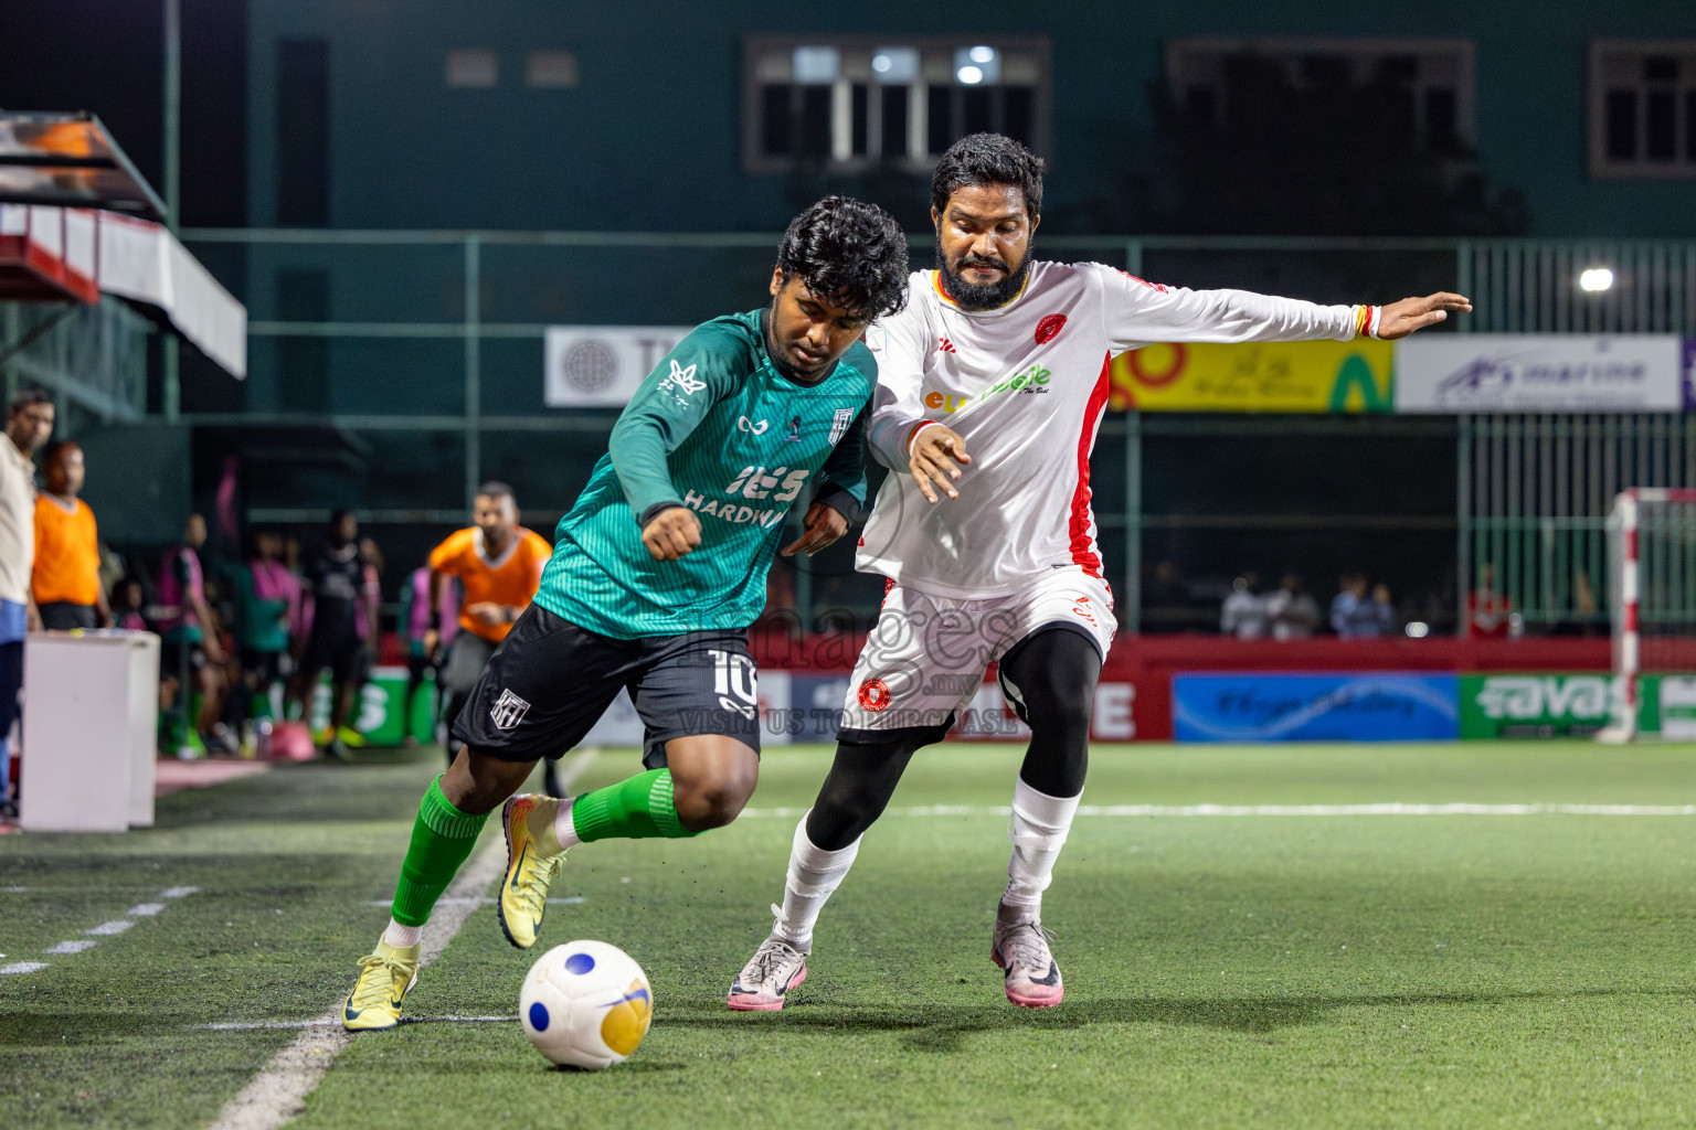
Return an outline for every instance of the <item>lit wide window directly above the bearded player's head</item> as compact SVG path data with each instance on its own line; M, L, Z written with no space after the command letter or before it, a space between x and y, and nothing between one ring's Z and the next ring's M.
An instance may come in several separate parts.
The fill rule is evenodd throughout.
M923 171L974 132L1048 147L1045 39L758 37L745 47L743 164Z

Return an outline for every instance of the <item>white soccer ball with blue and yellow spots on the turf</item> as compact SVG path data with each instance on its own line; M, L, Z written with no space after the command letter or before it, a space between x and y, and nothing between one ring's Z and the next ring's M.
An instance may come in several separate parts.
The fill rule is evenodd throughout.
M605 942L555 945L524 974L519 993L519 1020L536 1050L587 1071L629 1059L651 1018L648 974Z

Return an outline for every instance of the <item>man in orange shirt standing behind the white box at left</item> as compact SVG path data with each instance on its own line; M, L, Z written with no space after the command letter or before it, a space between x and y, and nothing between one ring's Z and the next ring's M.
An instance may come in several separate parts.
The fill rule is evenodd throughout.
M95 512L83 490L83 449L70 440L47 447L47 490L36 498L36 566L31 590L47 630L112 627L100 584Z

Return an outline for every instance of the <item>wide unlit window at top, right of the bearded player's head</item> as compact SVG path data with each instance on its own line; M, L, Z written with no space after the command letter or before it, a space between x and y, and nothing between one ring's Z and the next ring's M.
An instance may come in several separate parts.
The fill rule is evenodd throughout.
M1214 124L1269 112L1265 93L1372 97L1438 152L1472 142L1472 44L1462 39L1174 39L1167 83Z

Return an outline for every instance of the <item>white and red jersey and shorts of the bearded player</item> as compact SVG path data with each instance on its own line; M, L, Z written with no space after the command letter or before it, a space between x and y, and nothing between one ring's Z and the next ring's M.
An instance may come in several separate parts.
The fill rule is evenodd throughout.
M879 357L868 437L892 474L856 566L890 590L845 727L941 723L970 701L987 662L1043 623L1072 623L1106 657L1118 625L1089 457L1113 356L1153 342L1350 341L1374 334L1379 315L1160 286L1099 263L1033 263L1011 302L967 310L936 271L914 273L907 307L868 334ZM936 505L906 473L931 425L957 432L972 456L958 496Z

